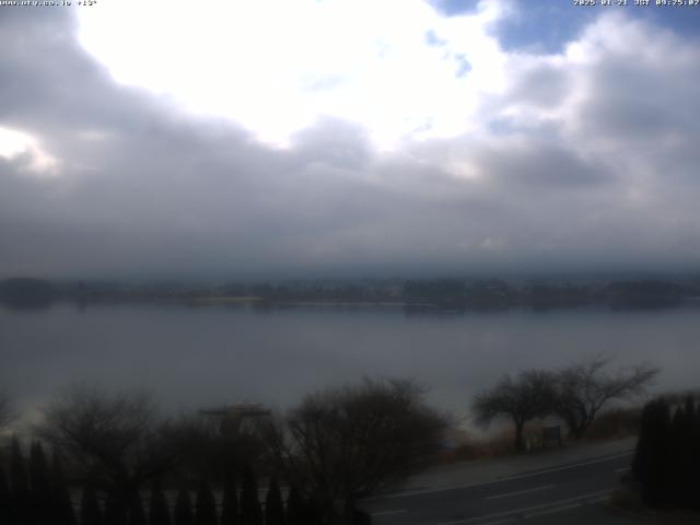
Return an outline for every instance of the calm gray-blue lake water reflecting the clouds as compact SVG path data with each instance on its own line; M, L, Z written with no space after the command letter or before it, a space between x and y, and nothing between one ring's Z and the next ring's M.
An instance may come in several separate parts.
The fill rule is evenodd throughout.
M700 308L408 315L400 306L182 304L0 307L0 390L25 415L72 383L147 388L165 410L285 408L363 376L412 376L457 415L502 374L605 352L662 368L655 390L700 386Z

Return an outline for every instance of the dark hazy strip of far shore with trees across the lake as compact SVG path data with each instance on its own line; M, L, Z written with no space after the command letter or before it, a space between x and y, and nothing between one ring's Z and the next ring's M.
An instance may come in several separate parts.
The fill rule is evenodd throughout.
M116 281L49 282L33 278L0 280L0 302L10 307L44 307L56 300L100 301L255 299L289 302L404 302L411 311L424 306L489 310L527 306L552 308L585 304L612 307L664 307L700 295L700 282L637 279L567 282L556 279L525 283L501 279L346 279L283 282L120 283Z

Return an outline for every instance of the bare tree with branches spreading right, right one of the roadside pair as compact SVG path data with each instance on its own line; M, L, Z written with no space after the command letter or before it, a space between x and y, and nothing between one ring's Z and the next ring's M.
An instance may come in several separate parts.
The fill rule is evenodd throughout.
M574 439L583 438L600 409L614 399L631 399L644 393L658 369L639 364L618 370L606 369L612 359L595 355L560 371L556 377L555 412Z

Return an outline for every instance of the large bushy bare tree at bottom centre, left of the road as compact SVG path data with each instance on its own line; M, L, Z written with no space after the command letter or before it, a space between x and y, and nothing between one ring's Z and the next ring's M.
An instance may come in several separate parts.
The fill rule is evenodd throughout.
M326 516L349 515L439 446L447 418L412 381L369 381L317 392L277 425L268 443L290 481L308 487Z

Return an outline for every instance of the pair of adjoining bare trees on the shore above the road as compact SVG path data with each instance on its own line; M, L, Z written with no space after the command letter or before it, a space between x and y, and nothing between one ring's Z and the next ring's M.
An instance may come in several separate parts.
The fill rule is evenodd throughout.
M612 400L629 400L645 392L658 369L640 364L609 372L610 358L594 357L558 371L527 370L503 376L495 386L472 400L478 423L509 419L515 428L514 447L524 452L525 424L555 416L567 425L569 435L580 440L600 410Z

